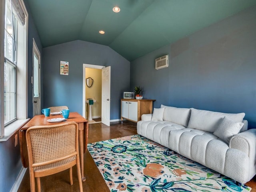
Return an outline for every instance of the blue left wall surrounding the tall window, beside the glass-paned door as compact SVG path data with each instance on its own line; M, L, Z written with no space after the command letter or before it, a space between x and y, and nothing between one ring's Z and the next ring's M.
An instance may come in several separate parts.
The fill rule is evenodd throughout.
M42 56L42 45L38 32L34 25L34 20L27 6L27 1L24 0L27 11L28 11L28 117L32 117L32 51L33 51L33 38L36 41L39 51ZM15 134L18 134L16 132ZM18 174L22 168L20 159L20 145L14 147L14 136L9 138L7 141L0 142L0 191L7 192L12 188Z

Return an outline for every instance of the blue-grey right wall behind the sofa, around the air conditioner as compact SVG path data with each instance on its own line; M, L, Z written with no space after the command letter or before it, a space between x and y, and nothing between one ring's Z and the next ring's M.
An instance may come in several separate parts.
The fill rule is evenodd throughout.
M256 6L131 62L131 88L161 104L245 112L256 128ZM155 70L169 54L169 67Z

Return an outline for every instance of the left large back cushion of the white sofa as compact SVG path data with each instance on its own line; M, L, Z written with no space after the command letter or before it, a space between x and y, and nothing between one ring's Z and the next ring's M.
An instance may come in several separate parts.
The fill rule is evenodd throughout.
M161 105L161 108L165 108L163 116L164 121L173 122L185 127L188 126L190 108L177 108L164 105Z

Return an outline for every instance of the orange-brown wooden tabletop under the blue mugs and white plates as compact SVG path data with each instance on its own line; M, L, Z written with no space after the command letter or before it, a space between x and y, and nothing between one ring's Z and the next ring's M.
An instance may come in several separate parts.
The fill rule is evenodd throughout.
M20 130L27 130L32 126L38 126L38 125L52 125L53 123L50 123L47 121L48 119L52 119L52 118L63 118L63 116L60 114L50 115L48 117L44 115L36 115L29 122L27 122ZM88 122L88 120L83 118L78 112L70 112L68 119L65 119L64 121L59 123L71 122L71 121L74 121L76 123ZM59 123L54 123L54 124L59 124Z

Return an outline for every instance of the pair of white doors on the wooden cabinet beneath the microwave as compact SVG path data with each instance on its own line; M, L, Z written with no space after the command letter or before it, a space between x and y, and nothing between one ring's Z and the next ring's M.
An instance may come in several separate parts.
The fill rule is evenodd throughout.
M138 102L122 101L122 117L138 121Z

